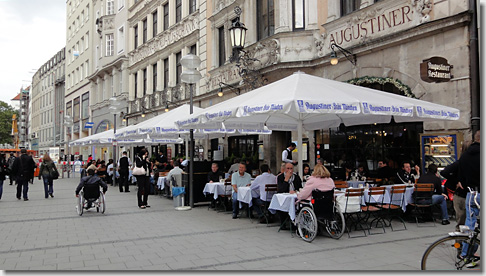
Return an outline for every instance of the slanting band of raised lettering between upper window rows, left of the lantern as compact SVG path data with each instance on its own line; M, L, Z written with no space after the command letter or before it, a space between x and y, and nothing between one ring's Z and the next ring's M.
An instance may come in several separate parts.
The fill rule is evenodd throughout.
M197 30L199 21L197 17L192 16L182 22L181 24L170 29L168 32L163 32L151 42L140 46L139 50L135 50L129 54L130 62L129 66L136 64L137 62L154 55L157 51L160 51L171 45L183 37L190 35Z

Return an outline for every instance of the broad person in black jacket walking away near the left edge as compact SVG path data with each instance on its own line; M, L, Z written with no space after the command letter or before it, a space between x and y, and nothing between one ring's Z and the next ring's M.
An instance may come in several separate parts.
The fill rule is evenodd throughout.
M15 176L17 182L17 199L20 200L20 195L23 194L24 200L29 200L27 192L29 191L29 181L34 178L34 171L36 164L32 156L27 155L26 149L21 149L19 158L15 158L12 166L12 175ZM22 191L23 188L23 191Z

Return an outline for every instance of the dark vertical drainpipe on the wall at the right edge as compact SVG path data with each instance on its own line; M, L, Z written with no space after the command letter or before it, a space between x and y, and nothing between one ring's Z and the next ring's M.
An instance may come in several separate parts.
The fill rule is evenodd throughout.
M469 12L472 15L469 24L469 60L471 62L471 130L472 134L480 128L480 86L479 86L479 50L478 50L478 8L477 0L469 0Z

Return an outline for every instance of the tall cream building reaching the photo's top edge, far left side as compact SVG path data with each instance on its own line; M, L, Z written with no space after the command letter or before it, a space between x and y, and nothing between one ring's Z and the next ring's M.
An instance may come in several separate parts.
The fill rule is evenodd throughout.
M85 128L91 120L89 109L91 91L88 76L94 71L93 37L95 20L93 5L95 1L69 0L66 2L66 94L63 116L73 119L73 126L65 131L65 150L67 142L91 134ZM70 154L83 154L81 149L73 148ZM87 154L84 153L84 154Z

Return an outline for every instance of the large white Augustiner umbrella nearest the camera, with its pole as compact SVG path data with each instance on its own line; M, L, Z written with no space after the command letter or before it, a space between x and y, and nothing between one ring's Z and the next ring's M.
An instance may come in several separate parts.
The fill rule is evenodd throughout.
M297 130L345 125L457 120L459 110L302 72L208 107L176 122L180 128Z

